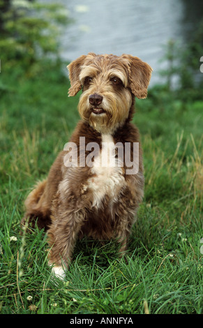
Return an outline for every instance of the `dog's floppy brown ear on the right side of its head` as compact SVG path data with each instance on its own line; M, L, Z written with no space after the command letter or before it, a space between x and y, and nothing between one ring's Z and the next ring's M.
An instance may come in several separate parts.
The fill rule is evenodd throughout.
M131 91L137 98L146 98L152 72L151 66L130 54L123 54L122 57L128 60L129 87Z

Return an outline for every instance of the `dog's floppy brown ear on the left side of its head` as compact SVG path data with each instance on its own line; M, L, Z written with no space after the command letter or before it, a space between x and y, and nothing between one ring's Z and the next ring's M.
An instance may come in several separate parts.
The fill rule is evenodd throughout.
M79 80L81 66L84 64L84 60L86 59L86 55L82 55L79 58L72 61L67 68L69 71L70 78L70 89L68 91L68 96L75 96L78 91L82 89L82 85Z

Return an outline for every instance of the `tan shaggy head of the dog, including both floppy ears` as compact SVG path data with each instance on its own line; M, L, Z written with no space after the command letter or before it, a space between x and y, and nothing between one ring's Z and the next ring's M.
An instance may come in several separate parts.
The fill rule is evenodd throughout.
M82 55L68 65L69 96L83 90L80 116L100 133L112 133L128 118L134 96L146 98L151 67L137 57Z

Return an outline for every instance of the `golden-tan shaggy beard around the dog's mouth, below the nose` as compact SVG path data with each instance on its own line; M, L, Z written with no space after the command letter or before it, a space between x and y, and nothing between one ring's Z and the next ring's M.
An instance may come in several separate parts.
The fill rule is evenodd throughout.
M117 94L105 94L103 102L95 106L103 110L96 113L94 107L89 104L89 96L81 95L78 110L80 117L99 133L112 134L119 126L122 126L128 118L132 98L126 91L118 97Z

